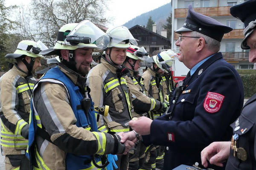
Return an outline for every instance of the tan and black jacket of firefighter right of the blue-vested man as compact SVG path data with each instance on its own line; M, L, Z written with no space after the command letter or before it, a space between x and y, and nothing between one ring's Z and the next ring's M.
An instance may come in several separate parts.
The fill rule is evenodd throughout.
M128 132L128 122L131 120L131 94L127 87L126 74L122 70L108 62L104 56L101 63L89 71L87 85L90 88L90 95L94 106L109 106L108 116L101 116L107 131ZM102 122L99 122L99 130L102 129ZM101 128L101 129L100 129Z

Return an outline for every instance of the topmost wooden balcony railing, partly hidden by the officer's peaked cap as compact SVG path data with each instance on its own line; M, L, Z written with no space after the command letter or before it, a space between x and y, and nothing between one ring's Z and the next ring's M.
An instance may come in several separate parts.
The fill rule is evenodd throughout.
M194 8L196 12L204 14L208 17L213 16L231 16L230 6L220 6L220 7L207 7L207 8ZM176 8L174 11L175 18L186 18L188 14L188 8Z

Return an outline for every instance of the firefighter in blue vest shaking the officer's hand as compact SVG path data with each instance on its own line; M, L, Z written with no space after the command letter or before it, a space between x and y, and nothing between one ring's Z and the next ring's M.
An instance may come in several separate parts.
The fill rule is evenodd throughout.
M26 155L34 169L101 170L106 154L127 153L133 147L132 142L120 143L119 135L97 132L86 75L93 49L108 43L108 35L84 20L62 26L54 48L40 53L58 55L61 62L41 77L32 94Z

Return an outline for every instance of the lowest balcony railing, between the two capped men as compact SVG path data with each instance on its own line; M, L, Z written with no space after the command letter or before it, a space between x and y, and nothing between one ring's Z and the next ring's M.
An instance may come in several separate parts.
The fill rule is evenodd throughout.
M249 52L222 52L226 61L248 61Z

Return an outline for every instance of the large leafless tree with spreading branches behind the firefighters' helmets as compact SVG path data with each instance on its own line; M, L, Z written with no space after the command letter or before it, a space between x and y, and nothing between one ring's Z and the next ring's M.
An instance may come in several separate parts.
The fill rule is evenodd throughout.
M104 24L108 0L32 0L25 11L21 7L17 32L30 40L55 45L58 30L67 23L90 20Z

